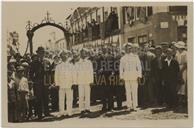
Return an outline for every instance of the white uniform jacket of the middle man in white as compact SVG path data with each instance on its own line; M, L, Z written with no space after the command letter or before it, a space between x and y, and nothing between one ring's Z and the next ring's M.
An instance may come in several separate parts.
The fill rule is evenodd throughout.
M93 83L93 65L88 59L80 59L77 62L77 83L78 85L88 85Z

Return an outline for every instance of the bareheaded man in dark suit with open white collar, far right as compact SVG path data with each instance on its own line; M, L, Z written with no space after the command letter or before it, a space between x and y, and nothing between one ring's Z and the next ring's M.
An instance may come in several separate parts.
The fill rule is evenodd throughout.
M176 106L176 88L179 80L179 64L173 59L172 49L167 49L167 57L162 64L162 84L165 90L165 102L167 107L174 108Z

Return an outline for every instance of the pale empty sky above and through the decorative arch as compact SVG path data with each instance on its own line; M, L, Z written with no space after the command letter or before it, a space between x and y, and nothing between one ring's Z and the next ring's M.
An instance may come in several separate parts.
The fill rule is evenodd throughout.
M4 2L2 4L3 35L4 41L8 32L19 33L20 52L24 53L27 46L26 25L30 20L34 23L41 23L47 11L55 23L65 24L66 17L72 13L76 5L61 2ZM52 32L56 33L56 39L63 38L63 32L55 27L46 26L34 33L33 51L38 46L45 46L45 42L53 38Z

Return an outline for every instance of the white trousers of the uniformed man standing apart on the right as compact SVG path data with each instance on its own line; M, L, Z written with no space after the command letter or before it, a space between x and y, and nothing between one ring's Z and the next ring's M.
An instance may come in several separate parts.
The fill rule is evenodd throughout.
M138 82L136 80L125 81L127 107L135 109L138 106Z

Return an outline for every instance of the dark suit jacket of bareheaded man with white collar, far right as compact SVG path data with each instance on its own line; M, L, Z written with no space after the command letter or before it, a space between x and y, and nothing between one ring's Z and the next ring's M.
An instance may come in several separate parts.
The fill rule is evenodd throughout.
M169 66L167 61L163 61L162 65L162 80L165 83L177 85L180 73L178 62L172 59Z

